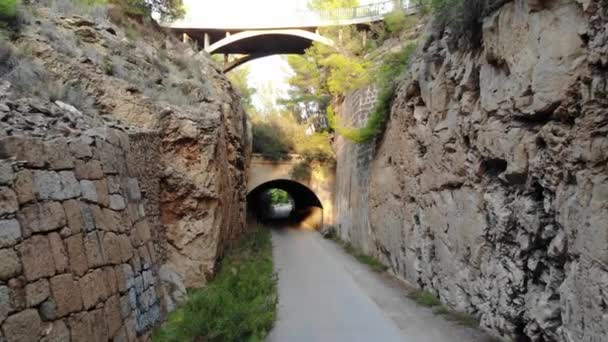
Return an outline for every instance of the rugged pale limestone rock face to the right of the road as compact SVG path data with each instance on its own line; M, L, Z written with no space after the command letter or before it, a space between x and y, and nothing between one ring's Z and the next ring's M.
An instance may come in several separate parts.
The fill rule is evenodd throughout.
M338 151L340 234L497 335L604 340L607 9L514 0L477 51L424 44L369 165Z

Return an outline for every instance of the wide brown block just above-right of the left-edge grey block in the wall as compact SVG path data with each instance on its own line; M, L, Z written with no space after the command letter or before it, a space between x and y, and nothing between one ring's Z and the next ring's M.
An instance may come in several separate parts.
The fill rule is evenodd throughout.
M66 225L65 212L59 202L30 204L17 215L24 235L57 230Z

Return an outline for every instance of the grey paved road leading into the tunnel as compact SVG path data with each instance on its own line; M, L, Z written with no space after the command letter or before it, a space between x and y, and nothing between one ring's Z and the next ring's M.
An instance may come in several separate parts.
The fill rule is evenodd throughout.
M283 229L272 238L279 314L268 341L489 341L417 306L401 282L368 270L318 233Z

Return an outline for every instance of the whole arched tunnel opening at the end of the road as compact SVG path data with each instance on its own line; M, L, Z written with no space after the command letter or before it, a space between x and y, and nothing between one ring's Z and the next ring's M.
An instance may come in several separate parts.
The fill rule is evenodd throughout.
M247 195L247 216L263 224L318 230L323 205L307 186L288 179L260 184Z

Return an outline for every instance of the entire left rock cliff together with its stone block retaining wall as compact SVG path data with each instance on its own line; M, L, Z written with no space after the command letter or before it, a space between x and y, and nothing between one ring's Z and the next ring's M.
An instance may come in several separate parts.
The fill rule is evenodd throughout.
M0 341L146 340L245 229L246 115L155 29L27 9L0 40Z

